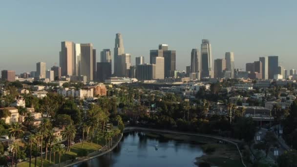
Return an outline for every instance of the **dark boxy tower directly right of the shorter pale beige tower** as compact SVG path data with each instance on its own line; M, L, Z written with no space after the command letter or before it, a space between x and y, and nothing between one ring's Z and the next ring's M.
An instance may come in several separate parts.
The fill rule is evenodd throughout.
M164 73L165 77L174 77L174 71L175 71L175 57L176 52L175 50L164 50L163 51L164 56Z

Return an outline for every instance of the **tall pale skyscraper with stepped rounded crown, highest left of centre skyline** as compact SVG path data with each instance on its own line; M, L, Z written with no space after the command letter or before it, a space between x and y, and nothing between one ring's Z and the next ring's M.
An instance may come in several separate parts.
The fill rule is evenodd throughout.
M115 36L115 43L114 43L114 52L113 52L113 74L118 76L120 71L118 70L118 56L125 53L124 43L122 39L122 34L117 33Z

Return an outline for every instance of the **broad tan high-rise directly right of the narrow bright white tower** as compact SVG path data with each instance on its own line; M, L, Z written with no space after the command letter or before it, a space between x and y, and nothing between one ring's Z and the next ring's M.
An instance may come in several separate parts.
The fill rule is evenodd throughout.
M81 76L86 76L87 82L93 81L93 44L81 43Z

